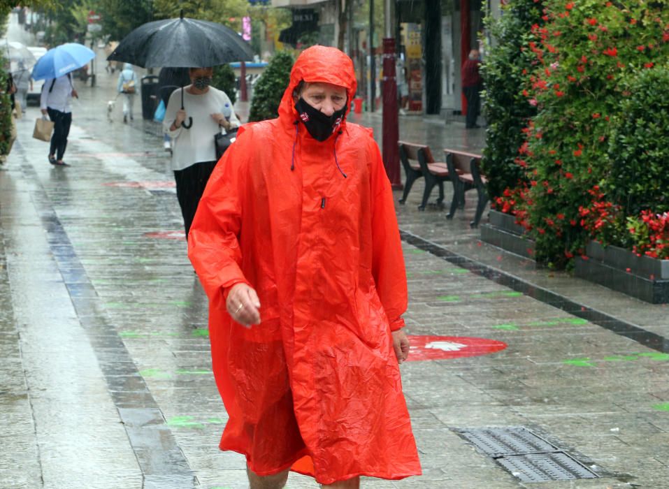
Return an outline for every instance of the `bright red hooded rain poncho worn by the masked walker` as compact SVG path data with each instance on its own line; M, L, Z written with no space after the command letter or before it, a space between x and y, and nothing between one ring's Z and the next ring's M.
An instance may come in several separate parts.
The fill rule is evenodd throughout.
M319 143L296 124L301 80L355 94L349 57L305 50L278 119L240 129L189 233L230 417L220 448L259 475L402 479L420 464L391 339L407 291L389 180L371 130L343 122ZM261 302L250 329L226 312L239 282Z

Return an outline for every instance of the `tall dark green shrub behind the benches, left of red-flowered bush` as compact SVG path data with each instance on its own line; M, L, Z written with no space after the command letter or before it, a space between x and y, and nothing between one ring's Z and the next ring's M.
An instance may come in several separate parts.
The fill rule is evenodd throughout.
M488 122L482 170L488 177L487 191L493 202L503 196L504 189L524 181L515 157L523 143L521 129L537 111L523 95L533 59L521 47L535 41L532 25L543 23L541 1L510 0L501 8L503 15L498 20L487 17L487 27L496 43L489 47L481 67L483 111Z

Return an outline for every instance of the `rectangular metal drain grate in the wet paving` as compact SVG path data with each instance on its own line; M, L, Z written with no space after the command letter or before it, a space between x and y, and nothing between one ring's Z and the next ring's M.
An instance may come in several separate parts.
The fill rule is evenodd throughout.
M463 428L454 431L524 482L599 477L527 428Z

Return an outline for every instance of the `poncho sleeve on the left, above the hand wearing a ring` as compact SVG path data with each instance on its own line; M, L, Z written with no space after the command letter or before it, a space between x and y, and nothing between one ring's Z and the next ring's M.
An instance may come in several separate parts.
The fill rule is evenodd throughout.
M231 145L218 162L188 233L188 257L210 303L222 308L231 286L249 283L238 241L248 158L239 147Z

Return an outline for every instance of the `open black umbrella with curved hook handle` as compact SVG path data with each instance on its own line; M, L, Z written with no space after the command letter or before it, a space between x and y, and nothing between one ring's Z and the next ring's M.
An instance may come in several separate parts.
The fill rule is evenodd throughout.
M108 61L123 61L143 68L209 68L232 61L250 61L253 51L229 27L207 20L156 20L143 24L125 36ZM181 87L183 109L183 86ZM182 122L185 128L189 124Z

